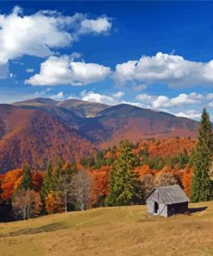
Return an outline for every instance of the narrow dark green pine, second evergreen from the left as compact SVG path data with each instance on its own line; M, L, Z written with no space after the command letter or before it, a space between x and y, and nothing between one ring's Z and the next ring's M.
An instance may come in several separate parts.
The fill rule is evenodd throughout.
M49 192L54 189L55 189L55 185L53 182L53 168L51 163L47 162L46 174L41 187L41 197L43 202L45 202L45 199L49 194Z

